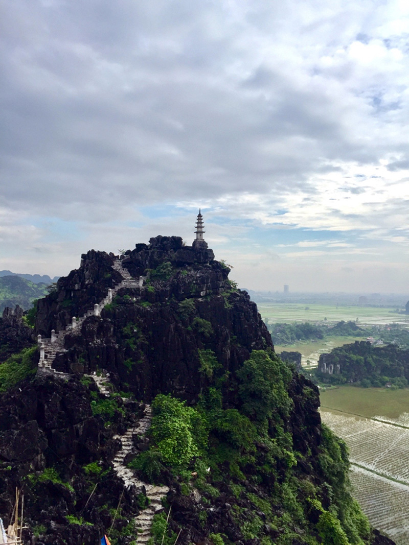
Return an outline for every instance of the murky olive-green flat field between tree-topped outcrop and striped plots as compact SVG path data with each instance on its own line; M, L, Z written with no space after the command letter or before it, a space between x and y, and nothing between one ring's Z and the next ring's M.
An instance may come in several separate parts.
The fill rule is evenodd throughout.
M321 407L372 418L398 418L409 413L409 390L340 386L320 392Z

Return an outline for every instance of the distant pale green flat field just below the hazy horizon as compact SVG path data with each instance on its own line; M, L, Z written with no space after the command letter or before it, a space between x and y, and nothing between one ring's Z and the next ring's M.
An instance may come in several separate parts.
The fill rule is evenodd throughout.
M393 307L336 306L336 305L301 305L296 303L260 303L257 305L263 320L275 322L340 322L356 320L361 324L392 324L393 322L409 325L409 316L395 314Z

